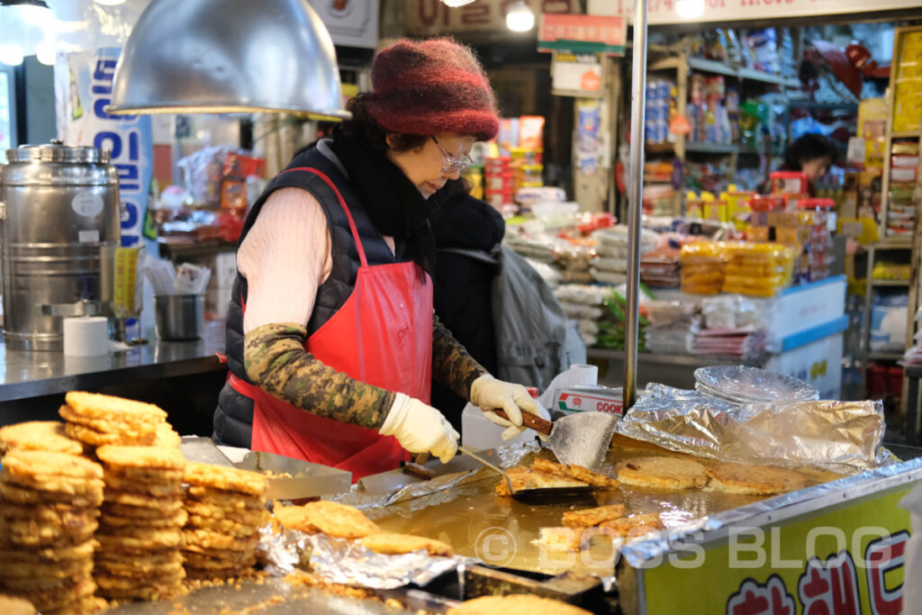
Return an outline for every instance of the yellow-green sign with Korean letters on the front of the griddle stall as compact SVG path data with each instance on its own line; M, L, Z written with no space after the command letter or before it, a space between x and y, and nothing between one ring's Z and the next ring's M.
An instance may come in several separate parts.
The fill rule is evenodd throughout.
M896 615L910 528L898 503L913 487L790 523L743 522L712 549L685 545L644 570L645 612Z

